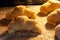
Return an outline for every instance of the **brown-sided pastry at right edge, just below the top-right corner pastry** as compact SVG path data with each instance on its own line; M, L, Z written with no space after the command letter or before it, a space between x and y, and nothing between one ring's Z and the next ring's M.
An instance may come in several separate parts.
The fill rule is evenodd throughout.
M47 17L47 22L53 25L56 25L56 23L60 22L60 9L56 9L51 12Z

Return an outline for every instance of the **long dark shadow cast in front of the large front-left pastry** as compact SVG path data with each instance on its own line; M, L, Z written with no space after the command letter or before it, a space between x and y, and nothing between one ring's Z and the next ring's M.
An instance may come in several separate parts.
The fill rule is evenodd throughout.
M34 32L28 32L26 30L24 31L16 31L13 34L8 34L7 31L0 35L0 38L4 40L28 40L29 38L33 38L40 35L39 33Z

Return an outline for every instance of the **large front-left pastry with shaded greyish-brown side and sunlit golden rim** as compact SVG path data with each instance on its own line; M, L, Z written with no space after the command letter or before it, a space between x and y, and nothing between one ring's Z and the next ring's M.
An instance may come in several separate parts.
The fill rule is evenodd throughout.
M19 16L16 20L8 25L8 33L14 33L15 31L27 30L32 32L41 33L38 22L33 19L28 19L27 16Z

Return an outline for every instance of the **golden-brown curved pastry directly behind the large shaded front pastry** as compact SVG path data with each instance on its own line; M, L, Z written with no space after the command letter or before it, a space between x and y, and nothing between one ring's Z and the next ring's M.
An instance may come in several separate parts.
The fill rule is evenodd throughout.
M22 16L22 15L26 15L28 18L31 19L35 19L36 18L36 13L29 9L26 8L25 6L16 6L15 9L9 13L6 14L6 18L13 20L15 19L17 16Z

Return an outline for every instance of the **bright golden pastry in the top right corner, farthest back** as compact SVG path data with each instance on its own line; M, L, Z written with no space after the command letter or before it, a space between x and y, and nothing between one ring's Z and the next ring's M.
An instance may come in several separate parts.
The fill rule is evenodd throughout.
M41 5L39 14L47 15L57 8L60 8L60 1L48 0L46 3Z

